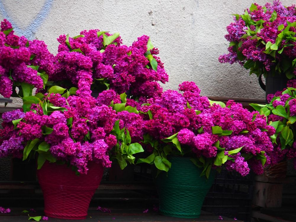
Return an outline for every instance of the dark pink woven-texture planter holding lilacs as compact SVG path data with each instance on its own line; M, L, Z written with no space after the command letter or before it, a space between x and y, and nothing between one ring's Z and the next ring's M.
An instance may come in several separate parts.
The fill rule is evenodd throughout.
M89 203L99 187L104 171L101 164L94 162L88 163L88 168L87 174L77 176L65 164L46 161L37 170L46 216L73 220L86 218Z

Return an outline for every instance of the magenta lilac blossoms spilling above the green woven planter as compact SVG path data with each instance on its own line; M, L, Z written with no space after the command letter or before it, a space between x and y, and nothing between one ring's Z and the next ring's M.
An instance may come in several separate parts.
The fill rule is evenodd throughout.
M228 170L235 170L242 176L250 169L258 174L263 172L257 157L263 155L270 162L273 146L269 136L275 133L274 127L266 125L266 117L231 100L226 107L211 106L207 97L200 96L200 90L193 82L180 84L179 90L183 94L167 90L149 99L148 112L147 106L142 108L143 112L150 113L144 116L144 132L158 141L158 151L167 146L167 138L177 133L185 154L194 154L213 163L223 149L228 155L224 163ZM221 133L215 133L213 127L220 127ZM227 154L238 148L241 148L238 153Z

